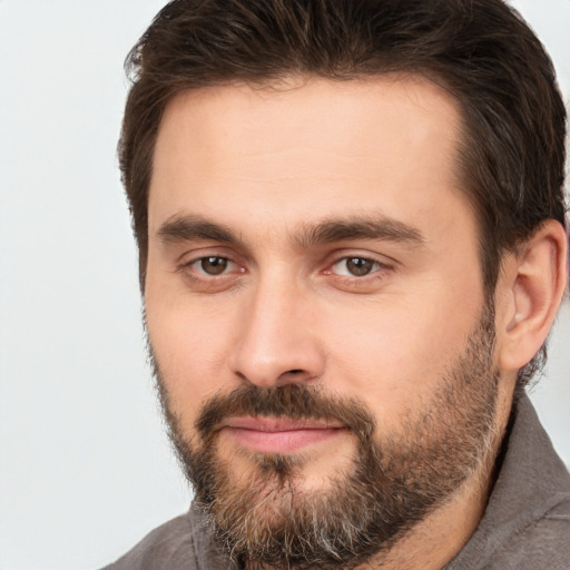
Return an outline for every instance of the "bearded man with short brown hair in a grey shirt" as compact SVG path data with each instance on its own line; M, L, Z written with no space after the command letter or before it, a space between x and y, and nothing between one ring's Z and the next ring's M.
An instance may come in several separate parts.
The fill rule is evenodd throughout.
M120 159L188 514L109 568L567 569L524 385L566 112L500 0L176 0Z

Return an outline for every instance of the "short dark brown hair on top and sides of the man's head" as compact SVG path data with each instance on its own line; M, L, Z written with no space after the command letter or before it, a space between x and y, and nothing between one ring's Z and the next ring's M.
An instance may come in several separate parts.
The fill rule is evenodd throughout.
M564 224L566 109L552 62L502 0L174 0L130 51L119 158L147 259L147 204L163 112L187 89L295 75L420 73L459 101L458 164L480 226L485 291L504 250Z

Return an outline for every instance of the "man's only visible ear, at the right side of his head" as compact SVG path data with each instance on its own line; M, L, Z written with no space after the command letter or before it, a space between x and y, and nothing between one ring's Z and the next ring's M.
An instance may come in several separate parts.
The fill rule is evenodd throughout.
M518 371L544 343L564 295L568 235L560 223L548 219L508 257L497 289L498 364Z

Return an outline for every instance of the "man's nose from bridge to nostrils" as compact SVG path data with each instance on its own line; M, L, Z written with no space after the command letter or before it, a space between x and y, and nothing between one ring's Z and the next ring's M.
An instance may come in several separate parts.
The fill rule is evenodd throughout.
M322 376L325 354L308 292L279 279L259 283L243 306L234 374L259 387Z

